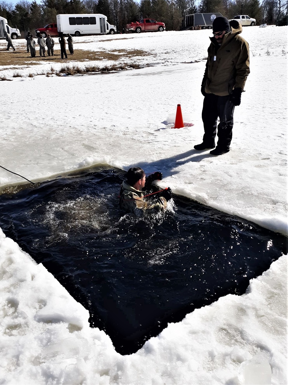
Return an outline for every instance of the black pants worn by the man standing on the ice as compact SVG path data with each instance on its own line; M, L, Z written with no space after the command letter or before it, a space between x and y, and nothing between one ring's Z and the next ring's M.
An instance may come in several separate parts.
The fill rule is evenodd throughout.
M229 149L232 139L234 108L235 105L231 102L230 95L206 94L203 102L202 121L205 132L203 143L207 147L215 146L217 118L219 117L217 146L220 149Z

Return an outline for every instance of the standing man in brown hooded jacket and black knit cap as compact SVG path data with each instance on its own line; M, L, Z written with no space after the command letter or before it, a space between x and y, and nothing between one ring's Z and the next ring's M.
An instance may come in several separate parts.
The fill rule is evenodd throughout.
M203 143L196 144L196 150L215 147L218 124L218 142L212 155L229 151L232 139L233 113L235 105L240 105L241 93L249 69L249 45L241 36L242 26L237 20L230 23L226 17L216 17L213 21L213 37L208 48L206 69L201 84L204 96L202 120L204 125Z

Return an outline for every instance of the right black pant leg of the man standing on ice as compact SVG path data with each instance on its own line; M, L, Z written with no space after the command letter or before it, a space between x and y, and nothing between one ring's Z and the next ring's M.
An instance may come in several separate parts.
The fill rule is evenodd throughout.
M229 150L232 139L233 113L235 105L230 100L230 95L218 97L218 142L217 146L221 149Z

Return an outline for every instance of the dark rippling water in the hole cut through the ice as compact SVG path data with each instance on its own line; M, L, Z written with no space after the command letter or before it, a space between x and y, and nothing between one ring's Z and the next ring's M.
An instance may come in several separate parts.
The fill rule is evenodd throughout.
M0 196L0 227L90 311L122 354L286 253L286 238L174 196L165 214L120 212L124 173L98 169Z

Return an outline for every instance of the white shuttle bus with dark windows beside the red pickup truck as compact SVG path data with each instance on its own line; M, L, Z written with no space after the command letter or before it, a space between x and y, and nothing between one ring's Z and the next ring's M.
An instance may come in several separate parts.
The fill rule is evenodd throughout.
M100 13L78 13L57 15L57 29L65 35L106 35L116 32L115 25L107 22L107 17Z

